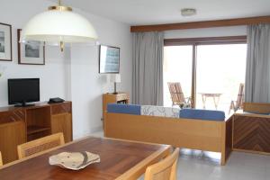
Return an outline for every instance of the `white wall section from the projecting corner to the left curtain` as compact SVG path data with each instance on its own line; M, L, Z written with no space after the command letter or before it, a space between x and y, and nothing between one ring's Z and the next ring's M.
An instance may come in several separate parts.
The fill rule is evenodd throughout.
M118 89L131 93L131 34L130 26L84 14L99 36L99 42L120 47L121 85ZM71 99L74 104L74 137L83 137L102 128L102 94L113 91L107 75L98 74L98 48L71 48Z

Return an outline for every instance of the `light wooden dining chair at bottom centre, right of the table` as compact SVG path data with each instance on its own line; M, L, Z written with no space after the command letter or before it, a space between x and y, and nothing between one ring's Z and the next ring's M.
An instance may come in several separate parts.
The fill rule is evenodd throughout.
M169 155L160 162L148 166L145 173L145 180L176 180L177 158L179 148L175 148L173 154Z

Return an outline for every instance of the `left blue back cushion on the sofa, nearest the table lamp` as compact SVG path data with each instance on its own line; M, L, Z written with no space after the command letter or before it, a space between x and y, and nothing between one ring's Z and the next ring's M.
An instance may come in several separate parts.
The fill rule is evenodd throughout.
M140 115L140 105L125 103L108 103L107 112Z

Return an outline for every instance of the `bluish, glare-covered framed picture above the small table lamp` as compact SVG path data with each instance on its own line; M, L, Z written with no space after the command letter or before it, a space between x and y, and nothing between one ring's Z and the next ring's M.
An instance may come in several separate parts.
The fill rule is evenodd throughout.
M120 68L120 48L100 45L99 73L118 74Z

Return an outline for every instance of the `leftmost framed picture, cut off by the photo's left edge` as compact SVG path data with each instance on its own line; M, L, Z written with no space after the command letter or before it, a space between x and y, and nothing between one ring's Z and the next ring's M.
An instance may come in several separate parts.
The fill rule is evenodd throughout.
M0 23L0 60L13 60L12 26Z

